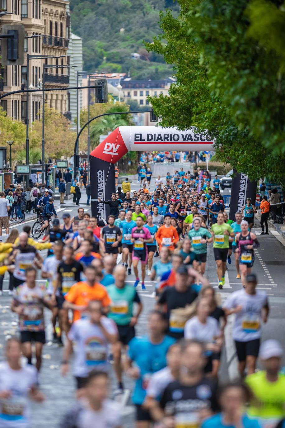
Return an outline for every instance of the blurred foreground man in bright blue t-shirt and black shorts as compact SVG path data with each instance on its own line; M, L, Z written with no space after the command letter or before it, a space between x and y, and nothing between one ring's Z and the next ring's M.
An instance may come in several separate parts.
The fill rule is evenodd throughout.
M128 358L125 363L126 375L135 380L132 401L136 407L136 427L150 428L152 418L142 406L150 377L166 366L166 354L174 339L165 336L167 322L159 311L148 317L149 337L137 338L129 342Z

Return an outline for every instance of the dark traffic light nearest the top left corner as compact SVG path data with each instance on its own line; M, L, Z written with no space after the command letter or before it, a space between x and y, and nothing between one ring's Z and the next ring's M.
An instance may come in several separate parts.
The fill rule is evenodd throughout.
M23 24L3 24L1 27L1 63L3 65L24 64L24 38Z

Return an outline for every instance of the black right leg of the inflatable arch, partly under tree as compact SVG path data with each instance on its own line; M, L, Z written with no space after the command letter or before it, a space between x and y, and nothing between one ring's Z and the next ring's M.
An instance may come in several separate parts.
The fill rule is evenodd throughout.
M247 198L251 198L253 205L256 203L256 181L250 181L245 174L238 174L234 169L232 179L231 202L229 205L229 219L235 221L235 213L241 212Z

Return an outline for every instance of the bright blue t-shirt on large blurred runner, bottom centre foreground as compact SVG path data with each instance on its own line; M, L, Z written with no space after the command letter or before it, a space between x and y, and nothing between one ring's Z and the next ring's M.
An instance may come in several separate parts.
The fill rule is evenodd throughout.
M158 344L151 343L148 337L134 337L129 342L129 358L138 366L141 373L135 382L135 389L132 394L134 404L143 403L150 376L166 367L168 348L175 342L176 340L170 336L164 336L162 342Z

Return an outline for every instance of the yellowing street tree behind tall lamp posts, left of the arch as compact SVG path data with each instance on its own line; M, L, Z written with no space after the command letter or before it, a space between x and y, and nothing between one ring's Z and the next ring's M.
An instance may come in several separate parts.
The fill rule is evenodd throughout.
M70 156L76 140L75 132L71 131L70 122L58 111L47 104L44 106L44 139L45 154L47 157L60 158ZM41 147L42 120L36 120L30 134L30 148Z

